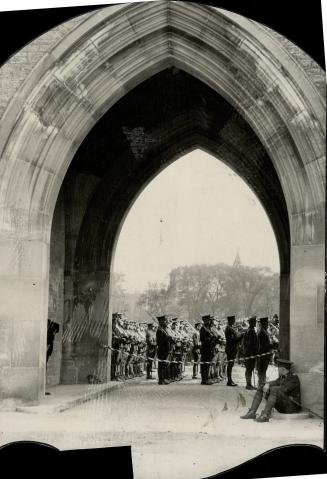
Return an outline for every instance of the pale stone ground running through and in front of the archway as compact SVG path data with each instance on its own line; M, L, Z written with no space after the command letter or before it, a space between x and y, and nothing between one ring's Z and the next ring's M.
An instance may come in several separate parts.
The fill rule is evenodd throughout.
M132 445L136 479L199 479L275 447L322 447L323 422L316 418L240 419L253 395L244 388L242 367L235 367L235 388L201 386L190 379L190 368L187 373L167 386L128 381L61 413L0 413L0 445L22 439L62 450Z

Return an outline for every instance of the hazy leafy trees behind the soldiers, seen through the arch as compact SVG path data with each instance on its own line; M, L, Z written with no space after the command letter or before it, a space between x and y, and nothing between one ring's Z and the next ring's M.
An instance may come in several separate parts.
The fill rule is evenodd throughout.
M170 272L168 286L149 285L138 305L151 317L172 312L192 324L203 314L271 316L279 310L279 275L241 263L180 266Z

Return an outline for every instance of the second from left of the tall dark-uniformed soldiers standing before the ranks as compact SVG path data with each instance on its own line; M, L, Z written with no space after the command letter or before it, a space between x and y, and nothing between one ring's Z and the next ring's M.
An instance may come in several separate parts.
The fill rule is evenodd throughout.
M203 325L200 329L200 354L201 354L201 384L210 386L214 384L214 381L209 378L210 365L213 360L214 346L216 344L216 338L211 331L212 318L208 314L202 316ZM207 364L202 364L207 363Z

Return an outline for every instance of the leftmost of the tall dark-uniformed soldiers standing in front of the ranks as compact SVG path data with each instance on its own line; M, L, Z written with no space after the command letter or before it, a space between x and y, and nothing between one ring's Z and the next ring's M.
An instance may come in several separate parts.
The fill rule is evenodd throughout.
M169 353L171 350L171 336L168 331L167 316L157 317L159 326L156 333L158 358L158 384L169 384Z

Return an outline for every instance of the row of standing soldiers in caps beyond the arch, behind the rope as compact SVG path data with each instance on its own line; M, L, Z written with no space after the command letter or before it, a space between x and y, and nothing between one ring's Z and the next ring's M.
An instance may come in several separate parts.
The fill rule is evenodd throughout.
M253 344L252 333L255 332L256 318L250 318L249 328L246 327L245 320L236 321L235 316L227 318L226 328L225 321L210 315L203 316L195 327L178 318L160 316L157 319L158 326L154 323L127 321L119 313L113 315L112 379L142 376L145 364L147 379L152 379L152 368L156 366L157 359L159 384L168 384L182 379L188 358L193 359L194 379L198 376L200 365L201 384L220 382L227 372L227 384L233 386L232 368L236 356L240 354L240 344L241 354L245 356L262 353L262 345ZM276 349L278 317L275 315L271 322L268 318L262 319L263 322L267 320L268 327L265 331L269 339L269 351ZM252 340L249 341L249 337ZM269 364L271 355L267 355L267 358ZM259 365L259 373L262 369L260 359L245 361L248 389L253 389L251 376L256 363Z

